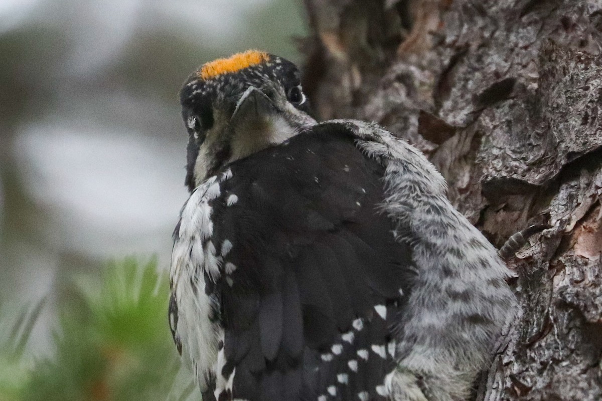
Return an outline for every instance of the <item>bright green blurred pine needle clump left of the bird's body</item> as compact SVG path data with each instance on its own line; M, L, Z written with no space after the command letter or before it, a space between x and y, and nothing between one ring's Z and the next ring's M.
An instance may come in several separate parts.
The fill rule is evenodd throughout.
M55 353L36 363L23 400L161 400L190 396L167 325L169 286L155 260L79 277L59 305ZM176 378L176 375L178 377ZM200 400L196 388L192 399ZM190 399L191 400L191 399Z

